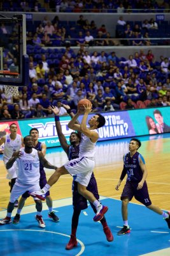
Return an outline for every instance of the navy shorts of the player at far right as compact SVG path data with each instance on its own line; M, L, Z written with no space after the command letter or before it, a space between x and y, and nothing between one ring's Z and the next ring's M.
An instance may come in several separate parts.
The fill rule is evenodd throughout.
M129 201L131 201L134 196L134 198L141 204L144 204L145 206L151 205L152 202L150 200L150 196L148 193L148 186L146 184L146 181L144 182L143 187L141 189L137 190L137 188L138 182L127 181L120 199L123 200L124 198L127 197L129 198Z

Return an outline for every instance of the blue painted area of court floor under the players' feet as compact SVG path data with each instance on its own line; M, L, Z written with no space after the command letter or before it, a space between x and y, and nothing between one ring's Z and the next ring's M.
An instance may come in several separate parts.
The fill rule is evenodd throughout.
M43 211L45 229L38 227L34 218L35 212L23 214L18 225L10 223L1 226L1 256L135 256L169 248L170 230L162 216L149 211L143 205L129 204L131 234L117 236L118 230L122 227L121 202L111 198L106 198L102 202L109 207L106 220L113 232L113 242L106 241L101 223L92 221L94 212L89 207L81 212L77 232L78 246L70 251L65 250L69 241L73 212L72 205L67 205L55 209L58 211L59 223L54 223L48 218L48 211ZM6 211L4 215L5 213Z

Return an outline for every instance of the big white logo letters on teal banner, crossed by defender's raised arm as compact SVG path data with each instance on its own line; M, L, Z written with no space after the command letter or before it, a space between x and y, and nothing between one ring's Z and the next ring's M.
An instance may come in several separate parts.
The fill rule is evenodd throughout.
M67 127L69 121L60 121L62 132L64 136L69 136L73 130ZM55 122L46 122L43 123L36 123L36 124L29 124L31 128L36 128L39 131L39 139L48 139L48 138L56 138L57 131L55 129Z

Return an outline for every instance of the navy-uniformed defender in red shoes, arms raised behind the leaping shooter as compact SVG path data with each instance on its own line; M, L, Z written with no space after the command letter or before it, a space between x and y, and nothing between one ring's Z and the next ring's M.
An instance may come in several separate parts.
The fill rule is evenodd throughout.
M62 106L67 110L67 113L69 113L71 118L73 118L74 114L73 114L73 112L71 112L70 107L68 105L64 105L64 104L62 104ZM78 158L80 138L81 138L80 133L71 132L71 135L69 137L70 145L67 144L66 138L65 138L64 134L62 133L62 129L61 129L60 121L59 121L59 116L58 116L59 109L56 107L53 107L53 106L49 107L49 108L53 111L54 115L57 116L57 118L55 118L55 127L57 130L57 134L59 136L59 141L60 141L61 147L66 152L69 160ZM94 173L92 173L92 176L90 178L90 182L89 182L89 185L87 186L87 189L94 194L94 196L97 198L97 200L99 200L99 193L97 190L97 183L96 183L96 179L94 177ZM66 250L71 250L74 246L77 245L76 230L78 227L79 216L80 216L81 210L87 209L87 207L88 207L87 199L78 193L78 183L74 180L73 180L72 190L73 190L73 209L74 209L74 211L73 211L73 217L72 217L72 223L71 223L71 238L69 240L69 243L67 243L67 245L66 245ZM92 209L94 210L94 212L96 213L96 207L94 207L94 205L92 203L90 203L90 205L91 205ZM103 225L103 230L104 230L104 233L106 234L106 239L109 242L113 241L113 235L111 234L111 230L108 227L105 217L103 217L103 219L101 220L101 224Z

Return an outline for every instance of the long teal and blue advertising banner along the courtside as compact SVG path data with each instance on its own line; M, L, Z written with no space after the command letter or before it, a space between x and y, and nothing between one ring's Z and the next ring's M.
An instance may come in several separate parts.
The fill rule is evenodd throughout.
M90 114L88 120L93 115L96 113ZM106 118L106 124L99 128L99 141L170 132L170 107L113 111L102 115ZM79 118L80 122L82 117ZM60 117L62 132L68 143L72 132L67 127L69 120L69 116ZM23 137L29 134L31 128L37 128L39 141L44 142L46 147L60 146L54 118L0 122L0 136L10 132L9 126L13 122L17 124L18 133Z

